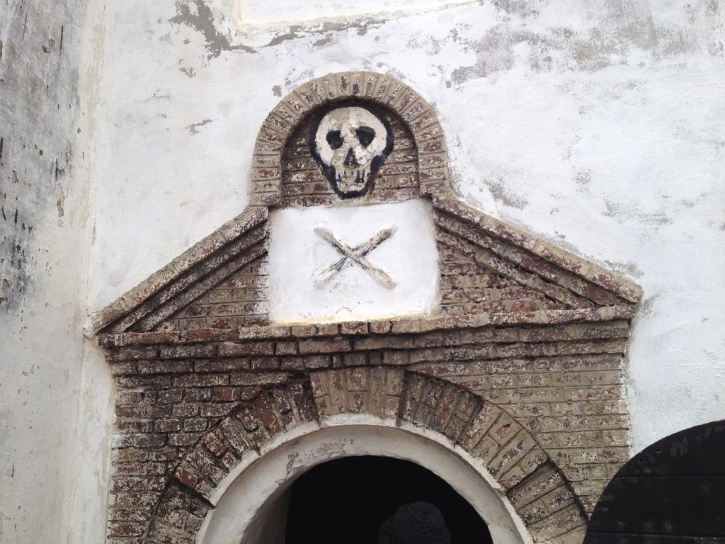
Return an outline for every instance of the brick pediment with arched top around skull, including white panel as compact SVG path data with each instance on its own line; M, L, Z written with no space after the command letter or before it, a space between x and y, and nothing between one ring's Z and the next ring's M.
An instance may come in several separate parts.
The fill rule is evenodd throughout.
M341 105L335 105L338 103ZM339 188L333 188L326 178L329 165L321 168L320 157L312 153L318 146L316 141L310 140L312 125L321 123L322 114L327 119L333 111L328 111L330 107L343 117L364 114L367 122L388 127L386 141L390 154L376 157L383 167L374 181L368 181L370 191L367 194L365 191L363 194L337 194ZM333 115L329 119L336 118ZM362 122L360 119L358 121ZM336 121L330 120L333 122ZM520 320L523 314L533 316L539 311L633 306L639 300L639 287L621 276L452 197L446 145L434 110L413 89L388 76L347 73L326 76L301 86L283 99L262 123L252 164L252 195L247 210L102 310L94 319L93 333L239 329L268 325L270 316L278 321L330 321L341 307L362 306L363 298L374 299L378 305L370 304L365 310L351 313L350 319L379 315L397 318L403 313L410 318L430 311L441 316L516 314ZM405 172L399 170L402 166L405 166ZM300 172L307 176L305 180L298 179ZM426 201L425 213L421 210L414 213L414 207L405 207L421 200ZM373 292L363 281L351 279L338 292L326 291L328 298L334 298L328 305L320 302L323 297L320 292L310 289L310 282L304 285L295 281L285 283L285 276L270 286L268 251L270 263L278 263L274 257L280 255L276 252L277 246L269 244L275 218L280 218L290 208L322 210L327 207L328 213L324 217L312 214L310 221L316 223L307 225L307 230L300 229L299 222L291 221L284 223L291 225L288 230L272 238L272 242L294 239L294 250L297 250L295 257L291 256L292 246L284 247L282 255L289 259L282 260L283 265L275 265L273 272L285 267L291 270L288 261L294 260L294 280L305 278L307 281L309 274L297 273L299 264L312 263L314 267L309 268L315 268L325 263L309 257L317 239L309 242L302 235L318 233L318 227L323 223L328 225L338 221L334 219L338 216L355 213L355 205L359 213L365 210L367 214L358 215L359 223L377 221L381 224L378 231L355 242L361 244L360 247L381 235L383 223L390 223L386 230L394 227L378 240L378 244L382 240L386 242L380 250L376 249L376 254L394 247L390 250L394 257L386 263L388 266L415 263L408 265L408 270L396 269L396 281L404 283L396 285L392 276L378 270L378 279L383 274L386 287L395 285L394 292ZM383 213L380 210L385 206L387 211ZM397 206L397 212L392 211L391 206ZM405 211L401 211L403 207ZM334 209L337 215L331 211ZM277 210L278 215L270 215L270 210ZM371 219L373 215L376 221ZM302 221L301 216L295 221ZM335 223L338 230L345 227L345 221L347 218ZM302 224L307 223L302 221ZM393 237L393 231L399 234ZM326 241L336 244L337 249L347 247L341 240L331 242L334 236L335 233L328 231ZM347 232L346 236L352 234ZM415 246L419 249L416 251L408 250L413 247L410 242L420 242L424 238L429 245ZM367 251L372 247L377 246L373 244ZM438 292L434 281L436 249ZM347 250L348 255L333 265L333 268L338 264L339 267L331 275L339 272L344 265L340 263L346 263L352 255L352 249L347 247ZM431 258L424 262L416 260L421 255ZM409 273L413 269L425 273L414 276ZM328 270L332 269L328 267ZM370 271L373 269L368 267ZM356 291L358 286L363 287ZM272 298L270 287L275 293ZM307 298L295 298L301 292ZM346 298L347 294L349 297ZM419 299L423 302L394 305L393 299L398 294L407 301ZM437 296L439 299L436 300ZM296 303L288 304L290 299L295 299ZM280 311L279 300L289 308L300 308L299 312ZM307 300L312 309L305 305ZM331 309L332 305L335 308Z

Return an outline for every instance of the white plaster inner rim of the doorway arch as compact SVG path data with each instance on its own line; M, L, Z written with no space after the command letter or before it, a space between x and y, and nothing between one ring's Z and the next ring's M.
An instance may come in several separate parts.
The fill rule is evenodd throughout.
M473 506L497 544L533 544L504 491L480 461L444 435L394 419L334 416L276 437L262 456L244 459L218 486L215 508L198 544L239 544L255 516L306 471L343 457L382 456L412 461L444 479Z

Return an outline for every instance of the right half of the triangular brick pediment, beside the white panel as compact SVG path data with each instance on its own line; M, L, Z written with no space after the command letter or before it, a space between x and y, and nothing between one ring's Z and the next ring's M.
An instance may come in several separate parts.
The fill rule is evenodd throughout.
M510 313L639 300L639 287L595 263L455 199L433 202L444 305L450 300L468 308L464 313Z

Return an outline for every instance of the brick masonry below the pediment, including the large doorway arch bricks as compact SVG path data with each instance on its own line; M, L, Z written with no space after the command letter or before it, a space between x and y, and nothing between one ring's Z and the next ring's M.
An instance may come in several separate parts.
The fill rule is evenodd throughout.
M512 500L534 535L549 535L537 541L565 542L547 539L583 527L582 516L628 453L621 384L627 312L608 320L601 310L579 312L578 321L566 312L569 321L555 323L565 313L554 310L552 322L539 326L475 326L468 317L101 337L117 385L109 541L191 542L175 531L195 533L211 507L202 499L239 461L239 444L258 450L290 425L371 413L414 421L464 444L513 498L545 465L559 482L555 489L563 486L554 495L566 491L566 500ZM286 393L276 392L281 387ZM302 412L285 408L299 407L305 391L314 403ZM486 429L498 430L465 442L474 413L489 412ZM252 419L245 424L241 413ZM225 423L230 417L241 423ZM191 456L220 432L226 442L241 441L237 450L227 445L210 458L205 445L203 456ZM508 461L507 448L516 452ZM534 460L523 461L527 456ZM216 467L214 477L200 468L204 463ZM179 485L192 490L183 491L183 500ZM553 491L547 487L544 495ZM165 494L194 505L199 519L172 514L181 507L163 506ZM561 517L560 529L550 523L559 517L545 521L550 516ZM154 531L175 536L154 540Z

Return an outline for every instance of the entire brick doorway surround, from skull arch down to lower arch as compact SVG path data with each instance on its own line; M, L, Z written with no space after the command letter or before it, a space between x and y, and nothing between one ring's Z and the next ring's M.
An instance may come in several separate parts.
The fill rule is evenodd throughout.
M405 316L274 321L275 215L333 207L328 189L283 189L321 176L289 161L307 152L311 119L357 101L397 126L405 157L389 166L411 170L386 162L360 207L420 198L439 303ZM302 181L291 181L297 171ZM410 186L385 186L409 173ZM468 207L448 179L435 113L394 78L328 75L278 104L255 144L250 207L91 325L117 391L109 543L194 542L247 467L295 433L352 424L428 433L500 491L524 540L581 542L629 458L623 360L642 290ZM336 205L349 213L355 202Z

